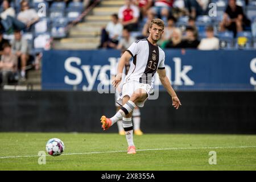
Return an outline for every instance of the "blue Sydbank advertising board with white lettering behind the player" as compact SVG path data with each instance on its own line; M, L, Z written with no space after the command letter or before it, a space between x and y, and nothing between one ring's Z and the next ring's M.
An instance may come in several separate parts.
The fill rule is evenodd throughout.
M256 51L166 49L164 52L167 76L177 90L256 88ZM111 92L110 69L119 57L117 50L45 51L42 88ZM157 75L155 86L163 89Z

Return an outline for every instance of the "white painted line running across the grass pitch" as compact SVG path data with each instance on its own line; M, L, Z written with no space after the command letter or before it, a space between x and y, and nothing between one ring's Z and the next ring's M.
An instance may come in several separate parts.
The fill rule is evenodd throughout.
M196 150L196 149L219 149L219 148L256 148L256 146L234 146L234 147L190 147L190 148L152 148L152 149L139 149L136 151L158 151L158 150ZM106 151L106 152L84 152L84 153L70 153L62 155L86 155L86 154L108 154L108 153L118 153L118 152L127 152L125 150L119 151ZM49 156L49 155L47 155ZM2 156L0 159L9 159L9 158L34 158L39 157L38 155L20 155L20 156Z

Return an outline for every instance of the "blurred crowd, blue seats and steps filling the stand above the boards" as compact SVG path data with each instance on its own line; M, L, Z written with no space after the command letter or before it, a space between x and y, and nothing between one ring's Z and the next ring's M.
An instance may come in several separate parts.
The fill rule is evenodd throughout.
M163 49L256 49L255 0L0 3L1 87L29 84L27 73L40 71L44 50L126 49L148 36L154 18L163 19L166 25L159 42ZM117 7L118 11L113 12ZM40 85L40 78L34 82Z

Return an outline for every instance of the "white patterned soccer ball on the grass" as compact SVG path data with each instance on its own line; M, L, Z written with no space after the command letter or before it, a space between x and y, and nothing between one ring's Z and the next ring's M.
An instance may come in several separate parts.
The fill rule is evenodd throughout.
M64 151L64 143L59 138L49 139L46 143L46 151L51 156L58 156Z

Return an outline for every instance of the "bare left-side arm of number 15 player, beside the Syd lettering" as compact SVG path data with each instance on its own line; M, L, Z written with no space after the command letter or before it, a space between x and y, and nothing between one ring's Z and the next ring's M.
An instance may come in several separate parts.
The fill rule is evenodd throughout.
M120 58L120 60L118 62L117 76L115 76L115 79L112 82L112 85L114 86L114 88L117 88L117 86L121 82L121 80L122 80L122 73L123 73L123 67L125 67L125 62L129 61L130 59L131 59L130 53L125 51L125 53L123 53L122 57Z

